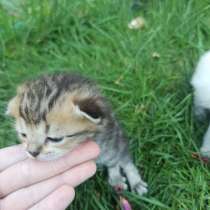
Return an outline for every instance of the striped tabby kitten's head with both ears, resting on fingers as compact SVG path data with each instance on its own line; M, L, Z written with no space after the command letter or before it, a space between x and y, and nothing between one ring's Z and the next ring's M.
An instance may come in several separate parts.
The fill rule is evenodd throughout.
M107 107L88 80L57 74L18 88L7 114L27 153L39 160L57 159L103 128Z

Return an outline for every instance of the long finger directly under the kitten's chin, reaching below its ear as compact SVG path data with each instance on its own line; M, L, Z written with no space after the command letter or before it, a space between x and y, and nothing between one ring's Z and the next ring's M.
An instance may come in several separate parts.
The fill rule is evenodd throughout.
M99 147L96 143L87 142L56 161L41 162L27 159L19 162L0 174L0 197L95 159L98 154ZM15 177L11 179L11 176Z

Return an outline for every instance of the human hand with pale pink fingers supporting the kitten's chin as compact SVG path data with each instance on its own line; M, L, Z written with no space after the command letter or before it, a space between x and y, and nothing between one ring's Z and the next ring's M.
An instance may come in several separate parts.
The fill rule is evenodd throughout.
M98 154L93 142L48 162L28 158L22 145L1 149L0 209L64 210L74 199L74 187L95 174Z

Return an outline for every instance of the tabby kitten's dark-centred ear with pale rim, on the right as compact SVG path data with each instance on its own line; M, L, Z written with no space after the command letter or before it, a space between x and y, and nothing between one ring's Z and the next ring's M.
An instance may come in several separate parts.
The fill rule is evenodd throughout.
M105 115L102 101L97 98L86 98L75 101L76 114L98 124Z

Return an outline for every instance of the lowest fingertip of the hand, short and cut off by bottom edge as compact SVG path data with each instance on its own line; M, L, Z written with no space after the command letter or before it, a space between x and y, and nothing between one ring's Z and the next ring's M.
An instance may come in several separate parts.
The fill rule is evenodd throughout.
M74 189L64 185L29 210L64 210L73 201L74 196Z

